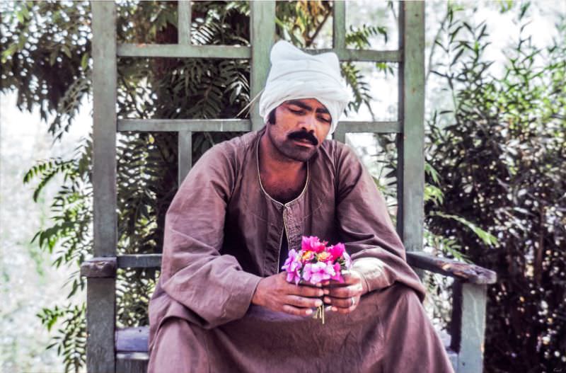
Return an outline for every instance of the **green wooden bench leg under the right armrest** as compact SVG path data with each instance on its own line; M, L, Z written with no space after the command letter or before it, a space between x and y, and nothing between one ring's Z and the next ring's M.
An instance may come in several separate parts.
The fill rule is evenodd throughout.
M454 282L451 348L458 352L457 373L483 372L487 285Z

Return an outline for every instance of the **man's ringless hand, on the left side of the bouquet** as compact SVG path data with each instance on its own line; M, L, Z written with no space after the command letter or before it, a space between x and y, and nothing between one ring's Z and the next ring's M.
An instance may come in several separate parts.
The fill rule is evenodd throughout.
M291 284L286 277L287 273L281 272L262 278L255 288L252 304L297 316L308 316L313 313L313 308L323 304L320 300L323 289Z

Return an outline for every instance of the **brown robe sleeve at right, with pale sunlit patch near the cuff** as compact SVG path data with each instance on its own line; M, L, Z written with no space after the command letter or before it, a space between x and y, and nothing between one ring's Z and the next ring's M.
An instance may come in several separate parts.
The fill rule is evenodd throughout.
M374 180L347 146L338 147L336 168L337 226L352 256L352 269L362 274L368 292L402 282L415 289L422 302L426 290L406 261Z

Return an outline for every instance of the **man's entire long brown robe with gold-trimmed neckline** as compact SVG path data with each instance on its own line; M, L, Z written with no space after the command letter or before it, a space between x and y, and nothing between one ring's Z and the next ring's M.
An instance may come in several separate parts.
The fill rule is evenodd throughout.
M263 190L265 128L207 151L166 216L162 272L149 304L149 372L453 372L424 314L374 180L344 144L324 141L305 188L287 204ZM344 242L369 293L326 323L250 305L279 272L283 231Z

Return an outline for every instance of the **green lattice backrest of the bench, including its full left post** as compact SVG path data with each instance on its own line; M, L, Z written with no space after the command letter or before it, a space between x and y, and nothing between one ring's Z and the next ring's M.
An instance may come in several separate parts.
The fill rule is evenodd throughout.
M179 180L191 167L192 132L257 130L263 125L257 105L250 120L117 120L117 58L178 57L250 59L250 97L262 89L275 41L275 1L250 1L250 47L190 44L190 1L178 2L178 44L117 45L114 1L92 1L93 10L93 195L96 257L116 258L118 268L150 268L159 255L117 256L116 133L178 132ZM398 233L408 251L422 250L424 220L424 3L399 3L398 50L349 50L345 43L346 4L333 4L333 52L341 61L395 62L398 74L398 119L388 122L341 122L335 139L347 133L396 134L398 145ZM272 32L266 32L272 30ZM314 52L314 51L313 51ZM317 52L323 52L319 50ZM115 371L115 278L91 277L87 286L87 369Z

